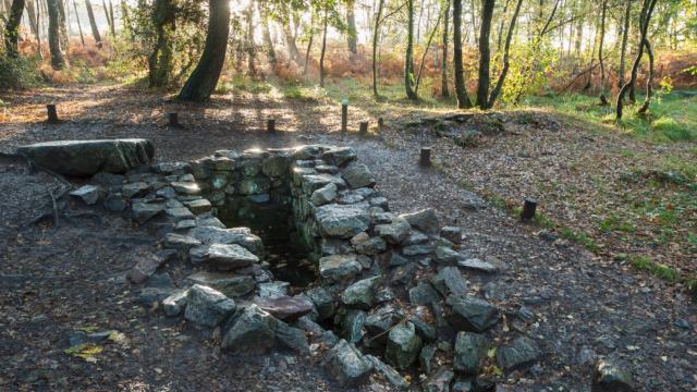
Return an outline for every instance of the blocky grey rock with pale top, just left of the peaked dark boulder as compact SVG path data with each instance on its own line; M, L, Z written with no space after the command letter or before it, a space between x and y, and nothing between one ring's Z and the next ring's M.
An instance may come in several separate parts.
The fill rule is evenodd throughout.
M216 327L235 311L235 302L213 289L194 284L186 296L184 318L197 326Z

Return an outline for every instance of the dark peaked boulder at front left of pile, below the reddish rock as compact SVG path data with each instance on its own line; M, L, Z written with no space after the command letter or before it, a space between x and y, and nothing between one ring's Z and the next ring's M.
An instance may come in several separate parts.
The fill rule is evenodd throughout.
M250 305L224 334L221 347L234 354L265 354L276 345L277 319Z

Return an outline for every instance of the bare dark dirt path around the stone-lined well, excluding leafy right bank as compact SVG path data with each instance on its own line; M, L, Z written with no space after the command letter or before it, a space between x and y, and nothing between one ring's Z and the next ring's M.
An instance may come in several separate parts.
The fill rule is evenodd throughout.
M521 305L530 308L534 320L510 317L491 335L506 341L527 334L543 355L525 372L503 377L502 391L588 391L597 358L625 366L640 391L697 390L697 306L687 294L568 242L545 240L539 228L492 207L474 209L479 198L455 185L455 172L416 164L423 139L402 138L395 131L371 139L342 136L334 107L260 96L183 106L121 86L75 86L2 99L10 102L0 114L3 152L39 140L101 137L149 138L158 160L222 148L352 145L394 211L436 208L443 223L463 228L464 247L473 256L508 266L493 279L469 277L470 285L508 315ZM61 124L41 122L48 102L59 103ZM180 112L183 130L164 125L170 111ZM352 124L365 115L353 111ZM267 118L276 118L284 132L264 133ZM102 222L76 218L58 229L24 226L47 204L46 184L53 181L28 175L21 162L0 163L1 389L337 389L307 358L220 354L207 344L209 336L135 306L134 287L122 275L136 253L155 246L154 233L115 216ZM96 364L64 354L70 333L87 326L118 330L125 340L106 344Z

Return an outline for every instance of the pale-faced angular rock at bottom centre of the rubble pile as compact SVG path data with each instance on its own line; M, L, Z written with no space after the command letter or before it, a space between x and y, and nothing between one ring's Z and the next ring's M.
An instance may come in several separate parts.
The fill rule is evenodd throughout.
M344 387L355 385L368 379L372 363L345 340L339 341L326 359L327 372Z

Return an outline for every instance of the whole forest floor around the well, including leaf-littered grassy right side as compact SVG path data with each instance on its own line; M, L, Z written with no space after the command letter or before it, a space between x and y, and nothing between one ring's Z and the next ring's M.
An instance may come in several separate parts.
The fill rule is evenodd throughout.
M377 113L375 107L352 107L352 132L358 121L377 114L388 123L360 138L339 132L335 101L278 90L217 96L201 106L168 102L159 94L122 85L45 88L0 99L7 102L0 113L3 152L40 140L102 137L149 138L158 160L192 159L222 148L352 145L378 176L393 210L436 208L444 223L463 228L473 255L509 266L496 285L499 306L515 309L542 298L529 305L536 321L513 328L538 341L545 355L526 373L504 378L503 390L585 391L598 357L625 364L643 391L697 390L697 306L685 291L697 270L694 143L648 143L549 112L522 111L477 114L460 128L484 132L463 148L453 143L449 127L423 121L443 110L408 106ZM58 125L42 122L44 105L52 102L63 119ZM171 111L180 112L184 128L166 125ZM282 132L265 133L267 118L277 119ZM486 131L491 127L496 132ZM424 145L433 148L433 169L416 164ZM46 201L39 186L45 180L10 163L2 163L0 177L2 194L10 195L0 216L0 244L7 248L0 266L5 293L0 297L0 355L9 364L0 385L32 390L40 382L46 387L77 377L80 385L95 390L120 380L122 390L217 390L235 378L268 373L261 371L268 368L261 359L245 367L235 367L234 358L208 366L217 354L194 343L178 343L186 350L178 346L160 355L172 342L169 330L158 329L167 328L163 321L120 299L127 285L109 284L136 252L127 240L109 236L147 233L111 219L103 229L93 222L24 228L21 223ZM481 208L479 196L489 207ZM531 224L510 213L525 196L536 196L541 205ZM94 231L103 235L84 236ZM82 246L71 246L75 242ZM59 278L66 273L70 279ZM131 340L129 348L114 343L108 360L96 365L66 360L66 333L87 323L120 330ZM167 357L174 354L183 357ZM273 373L271 381L257 382L284 388L299 377L307 378L305 385L317 381L313 389L331 389L315 366L301 364L290 367L289 378Z

